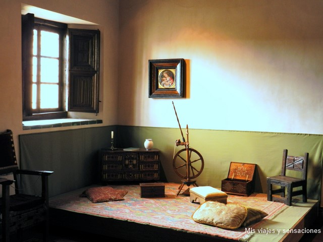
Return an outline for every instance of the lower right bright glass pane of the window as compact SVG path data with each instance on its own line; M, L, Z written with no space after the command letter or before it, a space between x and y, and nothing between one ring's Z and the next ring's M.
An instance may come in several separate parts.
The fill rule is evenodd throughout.
M59 86L51 84L40 85L40 108L59 107Z

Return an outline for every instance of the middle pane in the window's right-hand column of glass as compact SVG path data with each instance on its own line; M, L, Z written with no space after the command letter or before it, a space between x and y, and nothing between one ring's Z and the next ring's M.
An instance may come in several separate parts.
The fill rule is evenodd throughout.
M51 58L40 59L40 82L59 82L59 60Z

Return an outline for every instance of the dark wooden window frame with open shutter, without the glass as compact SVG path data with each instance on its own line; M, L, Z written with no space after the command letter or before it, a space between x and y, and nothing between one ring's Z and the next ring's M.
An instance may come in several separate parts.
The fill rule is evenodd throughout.
M61 110L32 109L32 58L34 26L64 29L62 38ZM69 44L67 44L67 42ZM85 48L84 48L85 47ZM72 49L72 50L71 50ZM86 52L84 52L86 50ZM69 51L69 52L68 52ZM81 60L75 62L75 59ZM71 66L71 63L76 65ZM22 16L22 89L23 121L66 118L68 111L98 113L99 108L100 31L98 29L69 29L67 24ZM68 66L68 65L69 66ZM75 84L75 85L74 85Z

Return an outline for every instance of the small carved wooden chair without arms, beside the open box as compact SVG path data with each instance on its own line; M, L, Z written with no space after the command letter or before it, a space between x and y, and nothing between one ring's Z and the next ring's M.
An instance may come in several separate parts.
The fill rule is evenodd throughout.
M292 197L302 195L303 202L307 202L307 165L308 153L304 156L289 156L288 150L283 152L282 172L280 175L267 177L267 200L283 202L288 206L292 205ZM286 170L301 172L301 178L286 175ZM296 174L296 173L295 173ZM273 189L273 185L280 186L280 189ZM300 188L294 191L294 188ZM286 197L285 197L286 188ZM281 196L273 194L280 193Z

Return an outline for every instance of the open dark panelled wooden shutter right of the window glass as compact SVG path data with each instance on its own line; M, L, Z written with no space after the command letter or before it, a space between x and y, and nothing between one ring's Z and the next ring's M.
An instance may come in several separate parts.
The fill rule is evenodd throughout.
M99 30L69 29L69 111L99 111Z

